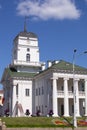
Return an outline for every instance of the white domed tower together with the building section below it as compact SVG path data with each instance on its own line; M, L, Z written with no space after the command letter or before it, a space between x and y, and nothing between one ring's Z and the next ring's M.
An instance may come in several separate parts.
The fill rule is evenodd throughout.
M39 60L38 37L33 32L20 32L13 40L12 62L5 69L2 84L4 111L10 116L25 116L35 111L34 77L45 69Z

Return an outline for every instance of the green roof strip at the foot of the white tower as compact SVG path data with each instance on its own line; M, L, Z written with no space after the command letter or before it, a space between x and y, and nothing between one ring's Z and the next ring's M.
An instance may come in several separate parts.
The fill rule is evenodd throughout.
M12 71L10 68L6 68L6 72L11 77L28 77L28 78L33 78L36 75L36 73L15 72L15 71Z

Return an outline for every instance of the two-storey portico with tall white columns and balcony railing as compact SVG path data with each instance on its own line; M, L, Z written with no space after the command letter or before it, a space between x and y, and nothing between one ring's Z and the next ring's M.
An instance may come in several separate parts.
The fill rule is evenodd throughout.
M73 116L73 78L67 77L53 77L53 116ZM84 82L84 86L82 86ZM80 109L85 107L85 115L87 115L87 80L75 78L74 84L76 85L76 101L77 112L76 116L83 115ZM82 99L82 100L80 100ZM85 106L83 105L85 102Z

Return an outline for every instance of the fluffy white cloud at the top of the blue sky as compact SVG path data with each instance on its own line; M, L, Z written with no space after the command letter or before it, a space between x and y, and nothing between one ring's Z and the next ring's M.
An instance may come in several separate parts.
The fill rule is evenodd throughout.
M78 19L81 12L72 0L21 0L17 14L48 20Z

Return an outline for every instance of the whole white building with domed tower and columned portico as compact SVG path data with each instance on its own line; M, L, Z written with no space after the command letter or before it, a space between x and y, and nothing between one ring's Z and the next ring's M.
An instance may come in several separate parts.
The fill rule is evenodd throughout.
M10 116L25 116L38 110L47 115L73 116L73 66L65 61L39 60L36 34L25 29L14 39L12 63L4 70L4 112ZM77 116L87 116L87 69L75 65Z

